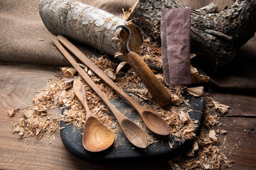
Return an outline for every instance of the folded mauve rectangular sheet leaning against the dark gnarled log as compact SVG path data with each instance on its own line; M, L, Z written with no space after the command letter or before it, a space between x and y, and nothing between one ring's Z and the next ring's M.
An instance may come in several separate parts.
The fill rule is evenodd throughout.
M191 83L191 9L161 11L161 57L166 84ZM164 44L164 45L163 45Z

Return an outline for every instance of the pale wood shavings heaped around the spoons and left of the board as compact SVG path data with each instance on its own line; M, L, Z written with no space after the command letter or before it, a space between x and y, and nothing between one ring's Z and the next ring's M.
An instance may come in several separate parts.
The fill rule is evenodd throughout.
M186 121L181 120L182 118L178 115L178 107L169 106L169 108L161 108L156 103L147 103L147 101L151 101L151 94L145 88L138 89L138 84L141 84L141 81L132 69L129 69L127 72L122 72L119 70L119 72L116 74L114 70L117 68L118 63L109 60L106 55L103 55L99 58L92 58L92 61L97 64L100 69L105 70L105 73L110 78L112 78L119 87L124 89L124 91L127 91L129 96L134 98L135 101L143 102L144 107L155 111L158 115L164 118L164 120L166 120L166 122L169 124L171 135L180 137L182 140L188 140L195 136L193 131L195 130L197 124L194 123L193 120L189 118L189 116ZM80 66L85 70L85 72L87 72L92 81L94 81L95 84L97 84L97 86L105 93L105 96L108 99L112 100L118 98L117 94L112 90L112 88L107 86L92 71L90 71L90 69L82 64L80 64ZM74 94L74 79L80 79L84 83L90 111L92 111L92 113L95 114L97 118L102 120L102 122L105 123L108 128L115 130L117 126L119 126L118 123L114 123L112 118L110 118L110 113L107 110L107 107L102 102L101 98L97 96L95 91L92 91L90 86L88 86L85 81L82 80L79 74L76 77L73 77L74 75L70 76L70 70L73 71L72 67L64 67L64 69L62 68L61 70L63 71L63 74L59 74L55 79L49 79L48 85L41 90L36 98L33 98L32 101L34 105L30 108L23 108L22 113L25 115L25 118L18 120L14 124L14 132L18 132L20 137L28 137L29 134L31 134L31 136L43 136L43 134L47 132L45 128L41 128L41 131L38 129L35 131L33 128L31 130L29 128L22 128L23 125L21 124L28 124L31 119L37 118L36 123L42 124L43 127L44 125L53 125L54 123L54 125L58 126L56 122L49 121L51 117L51 111L57 107L68 108L64 111L63 115L60 115L58 120L63 120L68 124L73 123L73 125L76 127L83 128L85 125L86 112ZM68 76L66 75L67 72L69 72ZM163 79L162 74L157 74L157 77L159 79ZM180 103L183 101L181 91L178 89L169 89L169 91L170 94L173 95L173 100L176 101L177 105L180 105ZM184 114L188 114L189 111L185 111L185 109L183 110L184 111L182 112ZM142 124L142 121L138 122L138 125L142 126L142 128L144 128L146 131L146 127L144 127ZM152 136L151 133L146 132L146 134L148 134L150 141L149 144L158 142L158 140L156 140L156 138Z

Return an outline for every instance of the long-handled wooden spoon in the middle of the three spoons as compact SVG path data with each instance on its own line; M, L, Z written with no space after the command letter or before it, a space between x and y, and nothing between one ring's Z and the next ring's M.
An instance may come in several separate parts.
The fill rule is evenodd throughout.
M85 79L87 84L96 92L100 98L102 98L102 101L110 108L110 111L114 114L114 116L117 118L117 121L122 128L122 131L124 132L124 135L127 137L129 142L131 142L136 147L146 148L147 147L147 139L146 135L143 132L141 128L139 128L138 125L132 122L132 120L129 120L126 116L122 115L117 108L113 106L113 104L107 99L105 94L97 87L97 85L90 79L90 77L85 73L85 71L79 66L77 62L73 59L73 57L65 50L65 48L58 42L58 40L55 40L55 38L52 38L53 43L58 47L58 50L60 50L61 53L65 56L65 58L70 62L70 64L73 65L73 67L78 71L80 76Z

